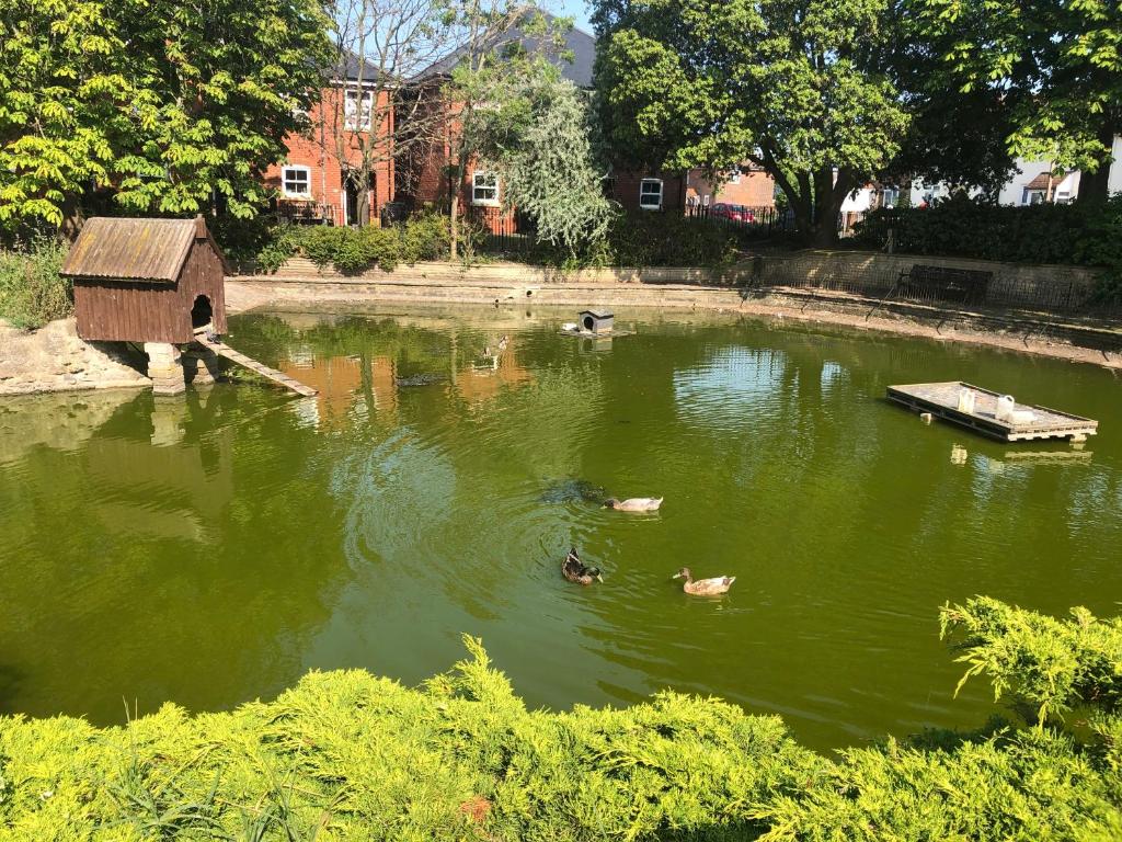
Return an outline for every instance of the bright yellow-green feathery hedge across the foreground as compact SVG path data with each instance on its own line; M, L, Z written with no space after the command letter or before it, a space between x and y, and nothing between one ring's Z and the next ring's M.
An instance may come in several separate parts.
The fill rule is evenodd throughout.
M273 702L125 726L0 719L0 834L19 840L1118 840L1122 626L947 606L1021 725L825 758L774 716L663 693L528 711L481 644L417 688L312 672ZM981 666L980 666L981 665ZM1079 707L1094 723L1065 729Z

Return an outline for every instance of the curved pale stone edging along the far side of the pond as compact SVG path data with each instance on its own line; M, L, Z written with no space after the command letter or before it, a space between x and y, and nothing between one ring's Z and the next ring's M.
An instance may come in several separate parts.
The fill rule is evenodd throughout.
M967 311L905 302L881 302L843 292L793 287L739 290L674 284L530 283L519 287L482 282L386 276L378 282L334 277L263 276L227 280L227 311L268 306L338 308L364 303L534 304L659 306L739 313L776 323L808 322L873 330L937 341L1003 348L1122 369L1122 327L1059 320L1027 311Z

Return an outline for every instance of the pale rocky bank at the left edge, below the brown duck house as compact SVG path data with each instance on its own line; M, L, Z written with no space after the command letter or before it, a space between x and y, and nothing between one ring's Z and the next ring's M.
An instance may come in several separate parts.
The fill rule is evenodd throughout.
M0 321L0 395L148 386L120 342L86 342L74 319L26 331Z

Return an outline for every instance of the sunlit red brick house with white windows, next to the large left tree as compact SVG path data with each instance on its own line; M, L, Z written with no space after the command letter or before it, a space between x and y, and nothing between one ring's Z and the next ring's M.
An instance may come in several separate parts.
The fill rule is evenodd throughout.
M285 139L285 161L265 173L267 185L276 189L276 210L282 217L302 222L355 225L361 216L377 219L386 202L394 200L395 163L392 150L370 174L369 209L361 209L356 180L361 157L359 136L377 132L393 137L393 109L385 86L374 80L377 68L360 65L353 56L334 68L320 102L309 111L310 128ZM381 122L373 126L371 122Z

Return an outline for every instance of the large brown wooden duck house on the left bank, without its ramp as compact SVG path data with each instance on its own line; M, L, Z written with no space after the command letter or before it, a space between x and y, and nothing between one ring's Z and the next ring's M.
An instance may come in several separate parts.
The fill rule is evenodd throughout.
M226 259L202 217L94 217L63 264L83 339L184 345L226 332Z

